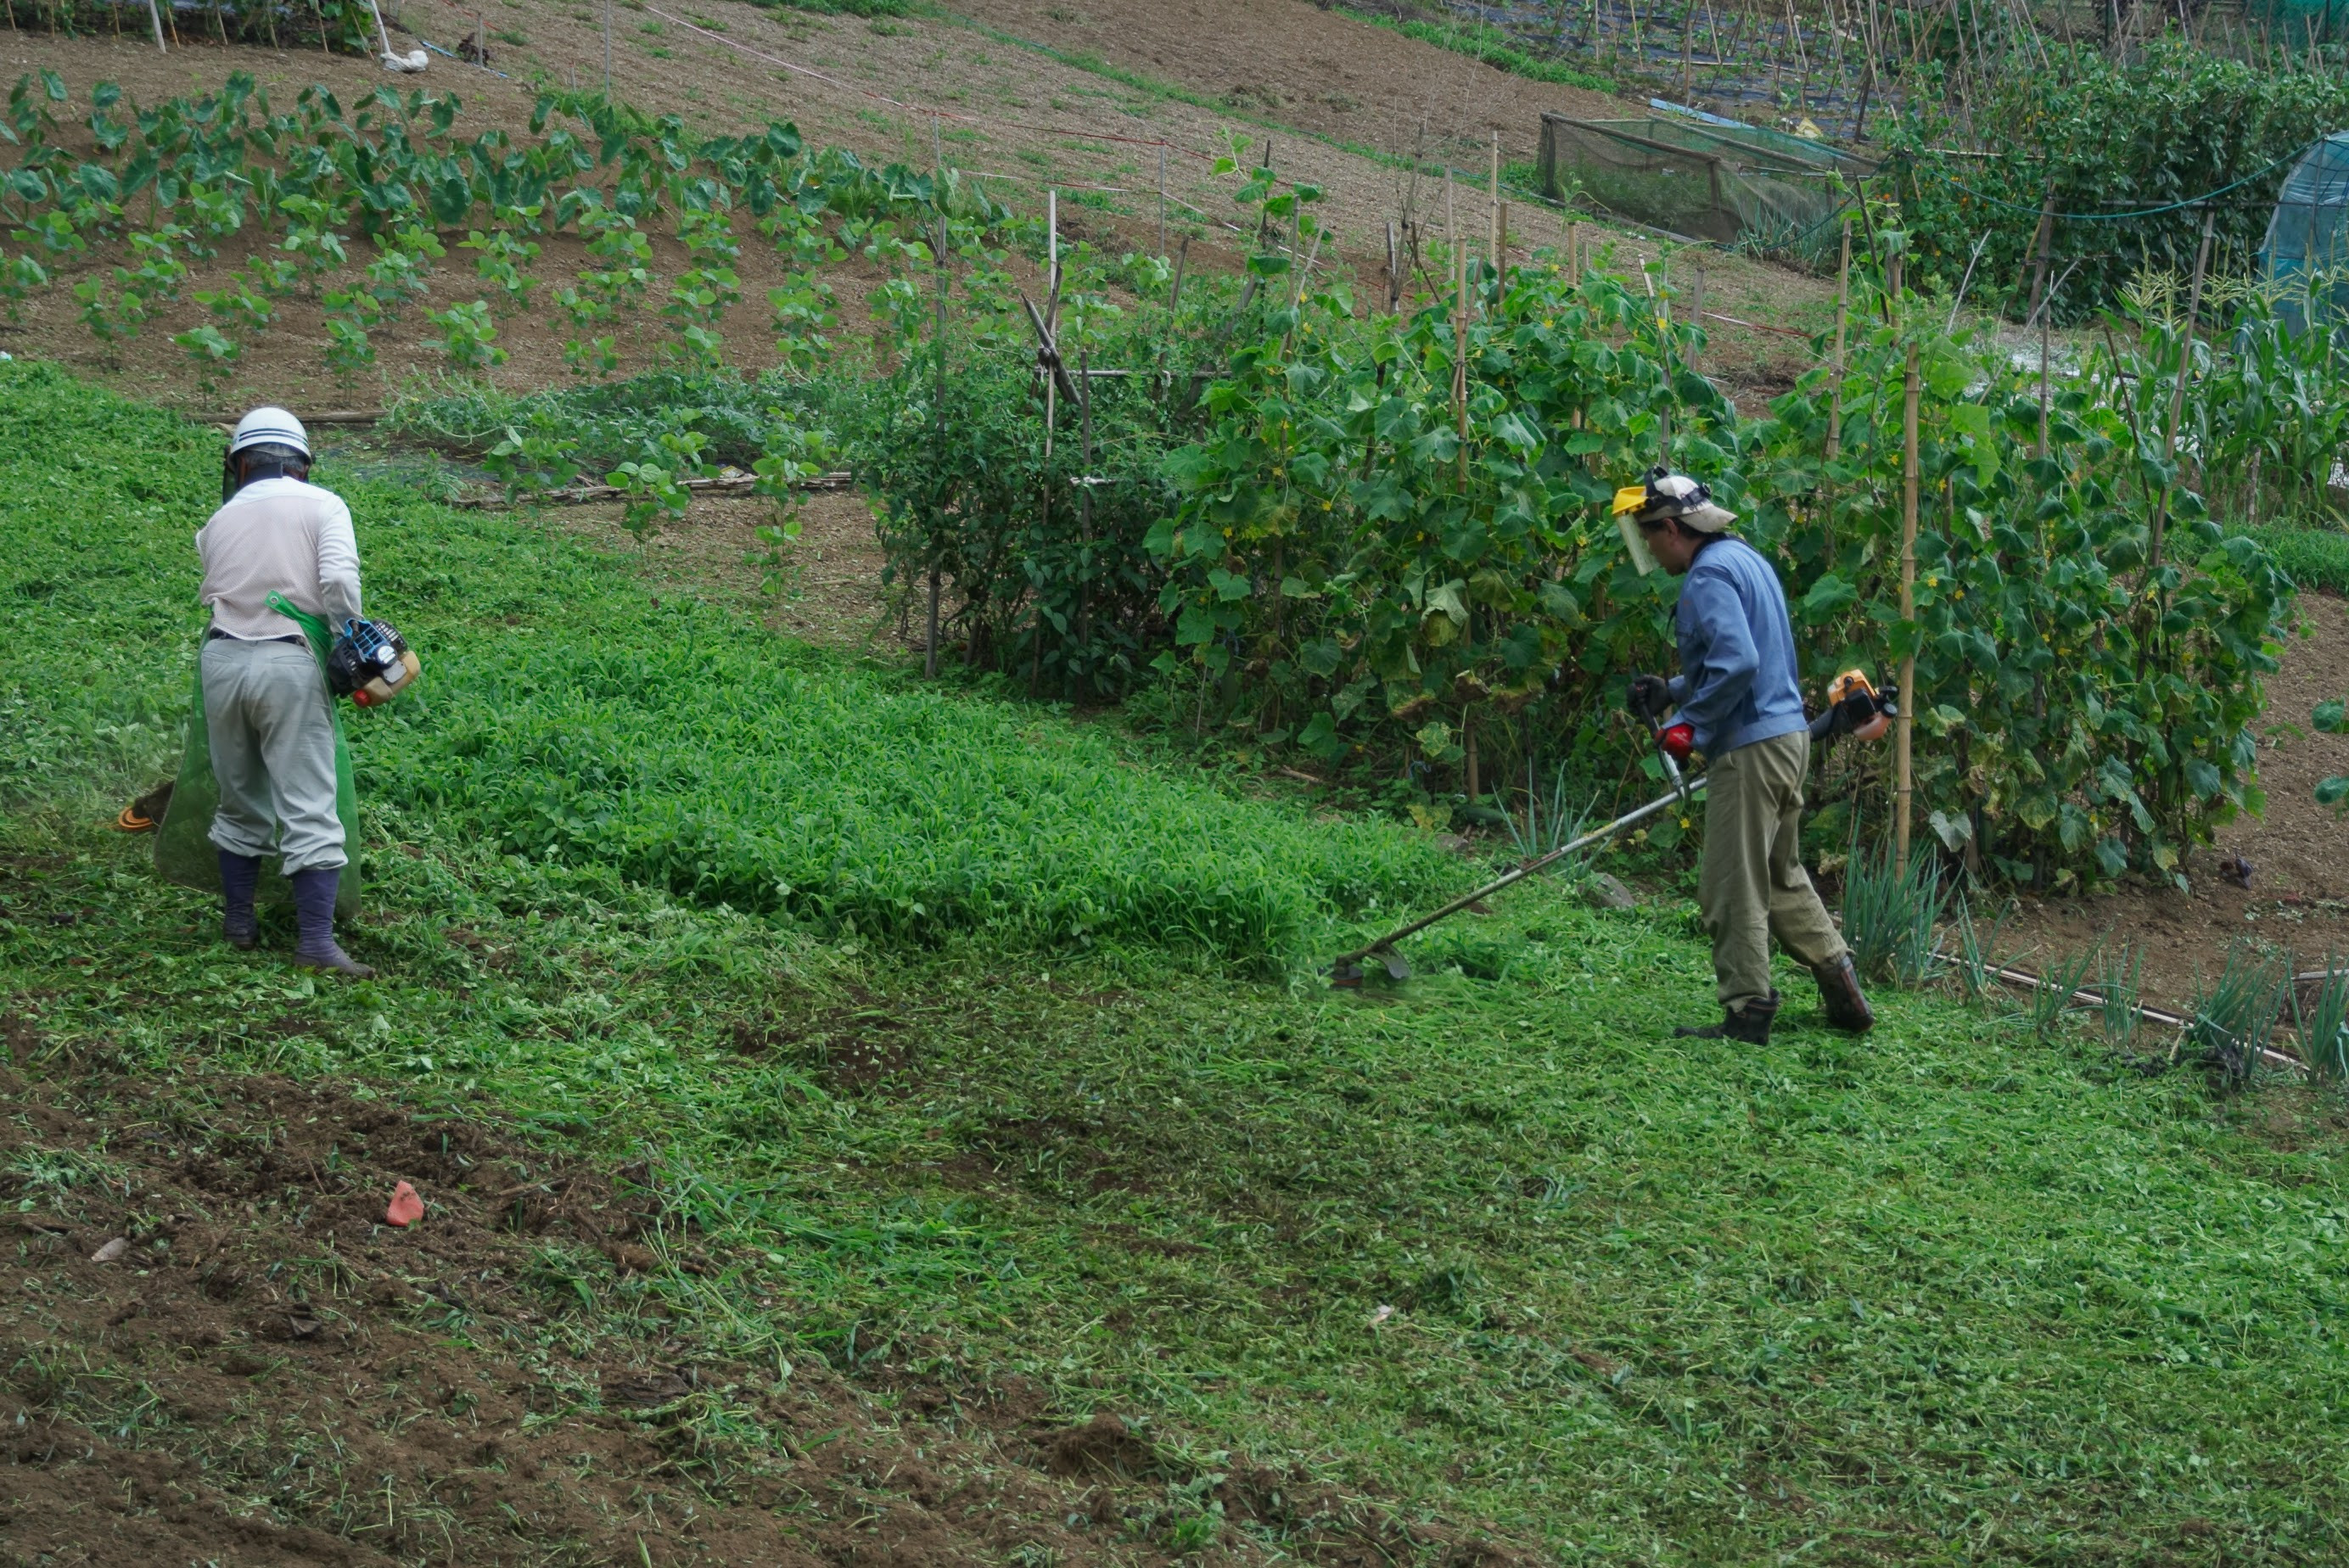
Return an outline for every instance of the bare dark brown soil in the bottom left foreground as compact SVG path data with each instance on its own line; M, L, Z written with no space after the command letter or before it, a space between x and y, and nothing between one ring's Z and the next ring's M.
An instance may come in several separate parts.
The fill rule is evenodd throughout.
M1116 1415L714 1354L632 1296L745 1289L641 1169L364 1087L35 1068L5 1026L5 1563L1170 1556L1144 1505L1184 1476ZM383 1223L395 1181L425 1195L411 1230ZM1226 1561L1266 1556L1243 1523L1327 1563L1508 1561L1238 1460L1217 1486Z

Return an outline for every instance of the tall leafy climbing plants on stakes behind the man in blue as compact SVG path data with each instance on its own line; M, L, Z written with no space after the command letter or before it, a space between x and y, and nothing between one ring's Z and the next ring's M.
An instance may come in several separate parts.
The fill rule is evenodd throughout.
M1238 197L1259 232L1308 244L1311 190L1257 178ZM1884 216L1891 251L1905 235ZM1078 254L1069 298L1106 303L1116 270ZM1139 695L1325 765L1400 753L1470 812L1515 815L1529 775L1539 789L1574 758L1623 782L1590 758L1642 753L1621 692L1670 664L1675 589L1633 570L1607 500L1670 451L1781 568L1804 669L1889 678L1914 655L1917 815L1952 850L2039 885L2175 876L2260 803L2250 723L2290 580L2210 519L2178 455L2236 460L2260 366L2227 345L2293 343L2257 296L2217 352L2208 329L2194 345L2173 439L2187 333L2161 300L2044 387L1947 331L1945 298L1891 293L1867 263L1842 380L1813 371L1745 418L1689 369L1703 333L1675 319L1668 263L1468 270L1466 310L1445 289L1384 315L1268 246L1240 298L1144 279L1130 307L1071 310L1062 359L1132 373L1059 397L1050 455L1024 305L965 298L942 340L909 315L879 418L843 432L893 570L916 589L937 573L947 636L1031 688ZM1921 538L1903 620L1912 347ZM1217 378L1193 394L1200 361ZM2323 418L2295 439L2333 439Z

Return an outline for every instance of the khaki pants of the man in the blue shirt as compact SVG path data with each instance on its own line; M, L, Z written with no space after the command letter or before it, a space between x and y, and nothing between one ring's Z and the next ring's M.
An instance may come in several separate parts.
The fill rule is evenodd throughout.
M1844 955L1811 876L1802 869L1802 782L1811 770L1804 730L1757 739L1705 768L1705 864L1696 906L1712 934L1722 1007L1738 1012L1771 993L1769 939L1816 969Z

